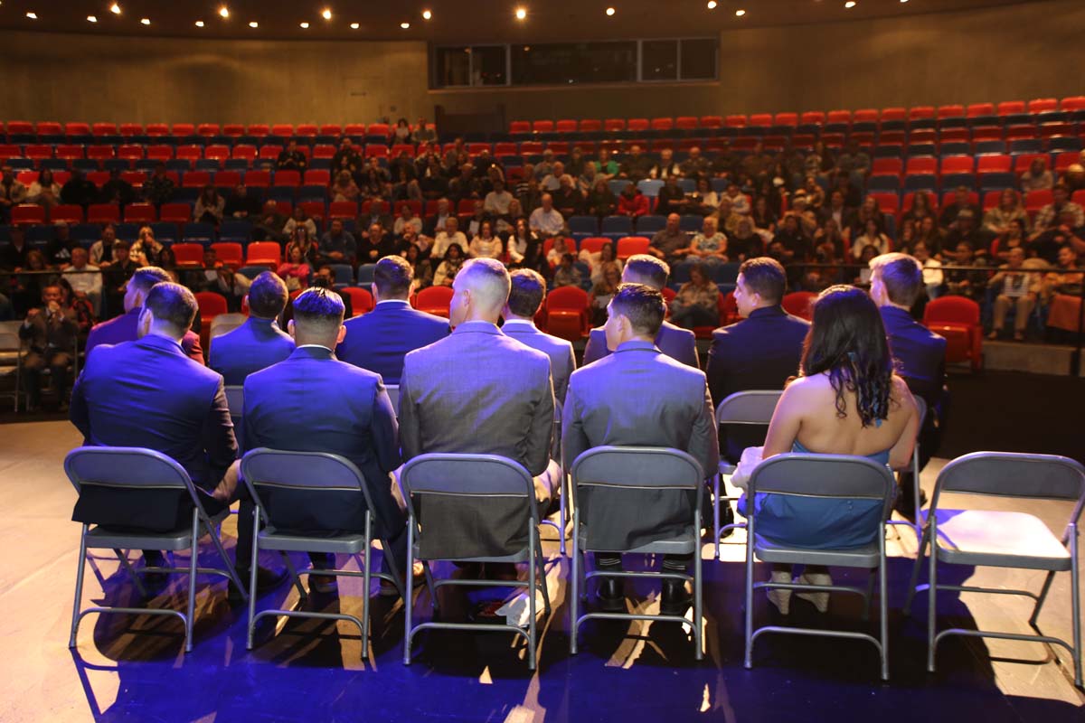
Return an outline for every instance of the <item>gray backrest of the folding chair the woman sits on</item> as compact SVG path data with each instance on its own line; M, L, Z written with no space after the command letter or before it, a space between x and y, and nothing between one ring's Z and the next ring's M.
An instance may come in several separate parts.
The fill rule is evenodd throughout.
M896 480L883 464L846 454L778 454L758 464L750 476L748 496L783 494L804 498L882 500L888 519Z

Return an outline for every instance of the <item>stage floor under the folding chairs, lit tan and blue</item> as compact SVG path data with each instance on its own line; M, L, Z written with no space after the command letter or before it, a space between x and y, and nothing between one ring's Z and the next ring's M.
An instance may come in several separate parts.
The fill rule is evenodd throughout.
M69 521L75 492L62 469L79 443L64 422L10 424L0 441L0 721L1000 721L1085 720L1083 697L1072 685L1069 655L1039 644L955 637L940 645L939 671L926 672L926 597L906 618L902 606L915 557L907 528L891 533L891 681L878 675L873 646L854 641L766 635L754 669L742 666L741 532L725 545L724 563L706 561L706 655L693 659L689 637L674 623L589 622L580 653L569 655L567 559L554 533L546 552L554 615L540 628L539 666L531 673L523 645L512 635L422 633L410 667L403 656L401 605L374 597L370 661L360 659L357 629L348 623L292 620L277 635L245 650L244 608L231 608L225 584L201 585L194 649L186 655L178 621L150 616L88 616L78 647L67 648L78 553L78 526ZM940 466L923 476L930 490ZM1033 511L1033 509L1030 509ZM1049 525L1069 509L1037 505ZM234 528L225 528L232 548ZM214 561L204 552L205 561ZM342 564L342 560L341 560ZM137 604L116 560L88 567L82 605ZM961 574L961 572L965 574ZM764 571L767 577L767 571ZM947 572L947 576L949 573ZM1038 590L1041 573L963 569L971 584ZM837 578L864 582L866 574ZM182 578L178 578L178 581ZM203 582L203 578L201 578ZM310 608L360 615L360 580L341 583L339 596L310 598ZM1069 576L1056 578L1039 618L1050 635L1071 637ZM155 605L183 607L180 582ZM641 592L647 592L641 589ZM856 599L834 598L819 616L793 599L779 618L763 595L761 623L790 622L872 630L859 619ZM416 606L429 616L425 593ZM444 596L442 599L446 599ZM286 585L261 605L296 602ZM462 601L449 599L449 615ZM642 601L655 611L654 594ZM940 598L939 627L1027 633L1027 601L1011 596ZM789 620L790 619L790 620ZM140 631L137 633L137 631Z

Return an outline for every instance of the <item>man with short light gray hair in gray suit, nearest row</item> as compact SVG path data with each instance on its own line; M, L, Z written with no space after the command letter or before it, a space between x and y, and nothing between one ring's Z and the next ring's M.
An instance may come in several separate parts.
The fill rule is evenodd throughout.
M468 261L452 284L452 333L407 354L399 382L404 461L429 452L496 454L535 477L541 514L557 499L561 470L550 460L553 388L550 358L497 327L509 298L509 272L495 259ZM526 544L523 505L488 499L430 499L422 555L455 559L513 553Z

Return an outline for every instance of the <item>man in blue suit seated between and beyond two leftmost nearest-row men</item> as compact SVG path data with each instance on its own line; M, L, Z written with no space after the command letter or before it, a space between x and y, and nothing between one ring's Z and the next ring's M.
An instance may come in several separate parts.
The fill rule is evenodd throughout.
M286 306L286 284L265 271L248 287L248 321L212 339L208 366L227 386L241 386L253 372L278 364L294 351L294 339L277 323Z

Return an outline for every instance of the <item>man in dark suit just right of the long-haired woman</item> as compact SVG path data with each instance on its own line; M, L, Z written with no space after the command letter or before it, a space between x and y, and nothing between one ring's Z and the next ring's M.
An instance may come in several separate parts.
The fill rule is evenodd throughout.
M942 440L941 421L945 418L948 395L945 391L946 340L911 318L909 309L924 293L923 269L905 254L882 254L870 260L870 297L881 311L885 335L897 373L908 389L927 402L927 416L919 431L919 468L922 470ZM901 494L896 511L916 518L916 479L901 474Z

